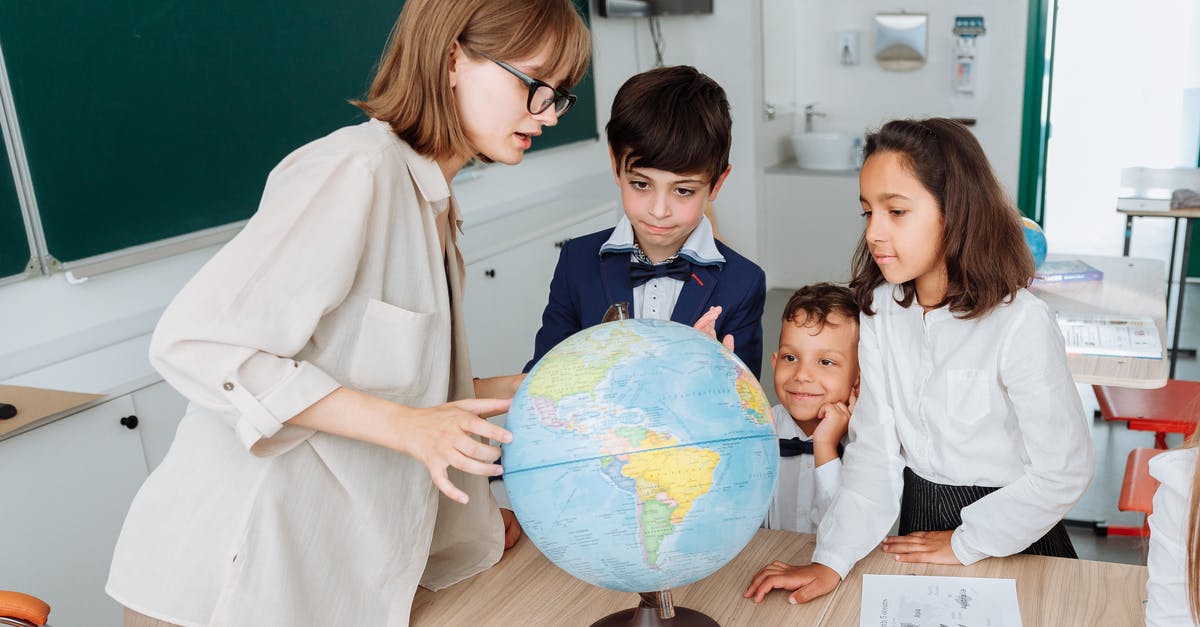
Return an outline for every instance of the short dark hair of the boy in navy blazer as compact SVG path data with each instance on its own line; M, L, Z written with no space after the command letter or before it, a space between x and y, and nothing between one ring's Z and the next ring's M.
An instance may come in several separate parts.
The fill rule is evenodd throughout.
M625 80L605 126L618 172L634 167L704 173L730 166L733 120L725 90L689 65L655 67Z

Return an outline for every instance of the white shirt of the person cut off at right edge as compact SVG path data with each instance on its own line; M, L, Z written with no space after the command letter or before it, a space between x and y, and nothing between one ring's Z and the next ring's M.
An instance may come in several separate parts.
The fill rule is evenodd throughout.
M1150 515L1146 566L1146 627L1196 625L1188 609L1188 507L1196 467L1196 448L1171 450L1150 460L1150 474L1160 482ZM1200 591L1194 591L1200 593Z

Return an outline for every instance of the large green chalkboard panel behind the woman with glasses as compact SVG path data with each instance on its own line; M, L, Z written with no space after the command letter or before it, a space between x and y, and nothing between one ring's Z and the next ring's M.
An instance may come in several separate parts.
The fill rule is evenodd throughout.
M0 1L49 253L66 263L248 217L284 155L364 119L347 100L366 92L401 6ZM590 77L577 91L540 148L596 137Z

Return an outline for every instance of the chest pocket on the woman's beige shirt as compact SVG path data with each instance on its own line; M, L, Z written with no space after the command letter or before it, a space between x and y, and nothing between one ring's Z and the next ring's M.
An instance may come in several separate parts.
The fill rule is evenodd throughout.
M354 341L350 383L362 390L415 396L430 382L436 312L367 301Z

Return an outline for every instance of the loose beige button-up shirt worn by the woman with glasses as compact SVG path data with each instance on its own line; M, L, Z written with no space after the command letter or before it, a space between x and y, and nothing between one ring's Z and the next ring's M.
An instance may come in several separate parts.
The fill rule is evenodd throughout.
M485 478L451 468L458 504L413 458L286 424L338 386L416 407L473 395L442 211L454 225L437 163L377 120L271 172L155 330L150 359L191 404L130 508L113 598L179 625L397 626L418 584L499 560Z

